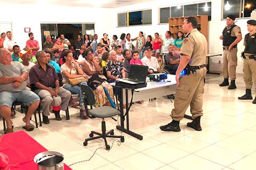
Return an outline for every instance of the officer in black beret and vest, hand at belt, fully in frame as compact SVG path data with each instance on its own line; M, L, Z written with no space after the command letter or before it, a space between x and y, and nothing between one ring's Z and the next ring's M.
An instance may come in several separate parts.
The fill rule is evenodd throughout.
M236 88L237 44L242 40L241 28L235 25L236 17L227 16L227 26L222 31L220 39L223 40L223 77L224 81L219 86L228 86L227 89Z

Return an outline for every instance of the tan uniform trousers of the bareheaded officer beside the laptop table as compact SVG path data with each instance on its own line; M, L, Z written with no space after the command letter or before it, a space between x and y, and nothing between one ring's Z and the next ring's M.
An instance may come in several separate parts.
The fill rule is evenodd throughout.
M190 105L192 119L203 116L203 93L204 77L207 69L202 68L196 74L180 77L180 84L177 86L172 119L180 121L183 119L187 108Z

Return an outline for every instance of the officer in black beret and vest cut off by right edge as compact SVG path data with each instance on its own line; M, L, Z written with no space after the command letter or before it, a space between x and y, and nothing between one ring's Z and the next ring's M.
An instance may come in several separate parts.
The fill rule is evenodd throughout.
M244 82L245 82L245 94L239 97L240 100L253 99L251 88L256 85L256 20L247 21L248 34L244 37L244 52L242 57L244 59ZM253 104L256 104L256 97L253 100Z

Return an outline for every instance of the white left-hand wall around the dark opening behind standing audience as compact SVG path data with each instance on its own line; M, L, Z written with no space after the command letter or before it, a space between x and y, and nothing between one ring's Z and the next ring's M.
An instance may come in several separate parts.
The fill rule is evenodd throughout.
M40 23L95 23L99 38L104 32L110 34L114 25L113 20L108 20L114 15L110 8L1 4L1 12L0 23L12 23L13 38L21 48L29 39L25 27L31 28L41 48Z

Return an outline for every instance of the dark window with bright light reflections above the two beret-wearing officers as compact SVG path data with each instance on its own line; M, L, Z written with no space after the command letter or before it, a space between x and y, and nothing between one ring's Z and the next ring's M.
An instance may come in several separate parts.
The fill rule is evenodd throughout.
M250 13L256 8L255 0L223 0L222 19L226 19L229 14L236 18L250 17Z

